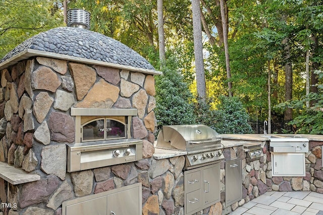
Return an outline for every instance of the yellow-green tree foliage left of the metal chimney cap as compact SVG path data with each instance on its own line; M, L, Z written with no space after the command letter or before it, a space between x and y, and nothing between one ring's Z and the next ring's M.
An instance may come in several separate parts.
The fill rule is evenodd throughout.
M29 37L63 25L54 0L0 1L0 58Z

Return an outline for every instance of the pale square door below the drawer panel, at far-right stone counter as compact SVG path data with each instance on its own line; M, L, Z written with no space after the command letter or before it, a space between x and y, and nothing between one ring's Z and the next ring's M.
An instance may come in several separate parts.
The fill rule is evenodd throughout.
M305 153L271 153L272 176L306 176Z

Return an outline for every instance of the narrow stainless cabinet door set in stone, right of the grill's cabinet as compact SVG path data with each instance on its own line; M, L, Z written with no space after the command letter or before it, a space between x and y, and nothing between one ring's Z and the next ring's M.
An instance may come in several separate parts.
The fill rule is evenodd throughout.
M241 160L226 162L226 206L242 198Z

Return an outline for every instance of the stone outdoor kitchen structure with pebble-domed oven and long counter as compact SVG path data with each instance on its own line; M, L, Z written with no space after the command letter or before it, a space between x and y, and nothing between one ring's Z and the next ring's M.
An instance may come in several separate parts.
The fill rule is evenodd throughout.
M0 61L0 71L0 215L96 214L96 208L100 214L189 214L187 152L155 145L154 76L161 73L138 53L99 33L62 27L17 46ZM97 118L124 125L124 152L132 157L105 163L97 152L100 162L90 160L96 151L87 148L106 146L85 139L85 124ZM227 214L272 190L323 193L320 136L308 135L304 177L272 176L268 138L242 136L223 136L219 199L194 213ZM117 141L111 139L99 142ZM259 159L246 158L250 141L261 142ZM73 147L81 148L79 160ZM116 149L112 157L123 152ZM228 203L231 161L240 162L241 194Z

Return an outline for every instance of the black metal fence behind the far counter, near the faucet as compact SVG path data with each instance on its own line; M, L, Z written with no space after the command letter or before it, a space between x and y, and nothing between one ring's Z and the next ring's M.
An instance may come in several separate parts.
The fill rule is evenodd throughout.
M288 133L293 131L293 127L291 125L287 125L289 121L280 121L271 123L272 132L271 133ZM253 133L263 133L263 121L248 121L251 126ZM268 132L268 126L266 125L266 132Z

